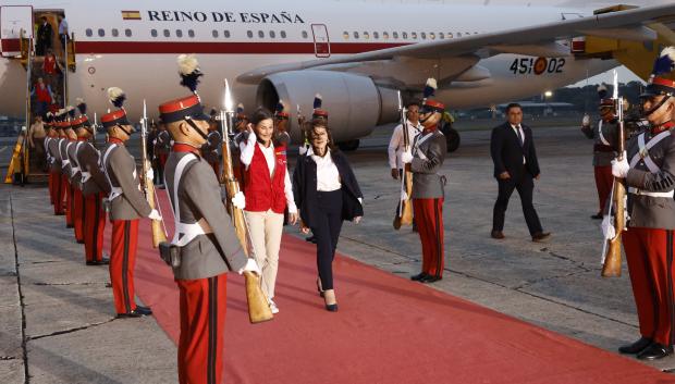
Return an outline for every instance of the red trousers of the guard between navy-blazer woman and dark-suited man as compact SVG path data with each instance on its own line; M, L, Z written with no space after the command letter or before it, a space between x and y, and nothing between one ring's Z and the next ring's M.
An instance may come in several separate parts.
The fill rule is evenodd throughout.
M445 268L443 199L413 199L415 223L422 245L422 273L443 277Z

